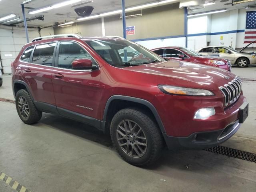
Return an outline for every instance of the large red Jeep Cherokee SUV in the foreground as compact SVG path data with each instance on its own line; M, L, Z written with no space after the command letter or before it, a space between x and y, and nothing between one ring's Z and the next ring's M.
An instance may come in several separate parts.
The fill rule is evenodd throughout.
M12 63L21 120L33 124L49 112L110 132L130 164L154 162L165 146L216 146L248 116L242 82L226 70L166 61L122 38L41 39ZM138 57L128 60L131 51Z

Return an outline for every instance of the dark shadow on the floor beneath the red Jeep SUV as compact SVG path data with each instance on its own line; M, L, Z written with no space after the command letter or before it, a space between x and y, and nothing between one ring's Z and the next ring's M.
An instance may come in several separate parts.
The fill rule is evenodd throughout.
M103 134L103 132L93 126L48 113L43 113L40 123L78 136L84 140L90 140L115 151L110 135ZM214 169L215 165L222 166L223 163L225 164L229 160L229 157L204 150L181 150L173 152L165 149L156 163L144 168L153 172L161 170L162 167L184 171L208 172ZM236 165L237 161L232 163L234 166L239 166Z

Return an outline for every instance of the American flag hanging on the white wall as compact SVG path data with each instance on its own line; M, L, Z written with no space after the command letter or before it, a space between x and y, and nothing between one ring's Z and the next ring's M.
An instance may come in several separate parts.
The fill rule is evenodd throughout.
M246 12L246 26L244 43L251 43L256 40L256 11Z

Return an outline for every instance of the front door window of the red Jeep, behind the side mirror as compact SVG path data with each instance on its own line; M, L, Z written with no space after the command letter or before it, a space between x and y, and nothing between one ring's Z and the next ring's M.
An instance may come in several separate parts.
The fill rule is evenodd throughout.
M72 69L72 62L76 59L90 59L92 65L96 65L94 59L74 42L60 42L58 67Z

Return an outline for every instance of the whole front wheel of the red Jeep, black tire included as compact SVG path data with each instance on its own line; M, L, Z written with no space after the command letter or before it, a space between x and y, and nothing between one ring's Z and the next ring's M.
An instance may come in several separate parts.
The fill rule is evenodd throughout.
M138 125L134 126L136 128L133 127L133 131L131 131L130 133L126 133L126 136L123 137L118 132L120 130L123 132L123 129L120 129L118 125L120 125L120 123L122 122L124 123L125 121L130 122L130 123L128 122L127 124L128 126L130 126L130 124L131 125L133 124L131 127L133 127L135 124L138 124ZM136 136L135 132L140 128L142 130L140 131L139 134L138 134L139 131L137 131L136 133L137 136ZM162 137L160 129L151 118L149 118L146 114L144 114L139 110L126 108L118 111L112 119L112 122L110 125L110 133L111 133L112 142L118 154L126 162L135 166L147 166L149 164L152 164L161 156L162 150L164 149L164 139ZM142 134L144 134L144 136L141 136ZM118 141L119 136L123 137L121 140L123 142L122 144L120 144L121 141ZM134 138L132 138L132 136ZM139 138L137 138L138 136ZM146 140L140 139L143 137L146 138ZM138 145L138 143L140 144L143 143L143 144L146 144L147 146L141 146L141 145ZM123 145L123 144L125 146L122 148L120 145ZM125 152L124 148L128 149L127 146L129 150L131 150L131 154L128 154L127 152ZM142 150L139 150L139 149L144 150L144 152L142 153ZM137 150L137 152L141 152L142 156L139 156L135 150ZM134 153L133 157L132 157L132 153Z

